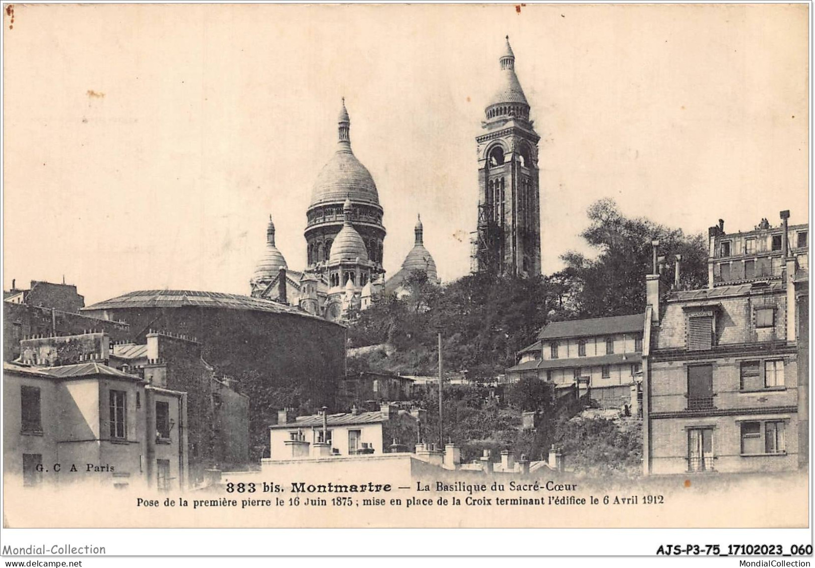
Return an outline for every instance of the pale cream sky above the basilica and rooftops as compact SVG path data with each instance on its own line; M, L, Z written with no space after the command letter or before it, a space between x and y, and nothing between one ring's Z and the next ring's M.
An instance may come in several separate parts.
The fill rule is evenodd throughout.
M519 10L519 11L518 11ZM16 5L4 14L3 285L249 293L289 268L337 140L385 210L469 272L475 137L509 34L540 134L544 273L613 197L687 233L808 220L808 6Z

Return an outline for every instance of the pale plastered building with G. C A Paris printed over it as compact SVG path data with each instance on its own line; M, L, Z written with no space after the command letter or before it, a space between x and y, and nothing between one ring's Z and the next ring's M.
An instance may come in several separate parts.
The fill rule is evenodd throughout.
M187 395L90 360L3 363L9 486L187 486Z

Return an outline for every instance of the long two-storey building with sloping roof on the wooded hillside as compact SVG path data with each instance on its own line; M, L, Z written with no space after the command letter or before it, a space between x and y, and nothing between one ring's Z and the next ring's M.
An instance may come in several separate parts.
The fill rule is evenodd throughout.
M578 384L603 407L636 408L644 324L641 313L550 322L506 373L510 382L531 376L556 388Z

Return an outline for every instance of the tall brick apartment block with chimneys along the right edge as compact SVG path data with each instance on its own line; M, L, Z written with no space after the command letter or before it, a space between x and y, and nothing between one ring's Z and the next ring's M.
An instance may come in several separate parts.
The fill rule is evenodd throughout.
M721 221L712 227L710 285L702 290L681 290L678 278L670 289L654 242L643 353L645 473L769 472L807 463L808 393L799 364L808 357L808 227L789 227L788 217L782 211L779 227L762 220L750 233L725 234Z

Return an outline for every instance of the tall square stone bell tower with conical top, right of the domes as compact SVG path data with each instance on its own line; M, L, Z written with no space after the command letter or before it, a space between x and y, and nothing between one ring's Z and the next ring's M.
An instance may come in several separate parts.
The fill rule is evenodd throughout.
M509 36L499 63L499 87L475 139L479 187L473 269L535 277L540 275L540 136L515 74Z

